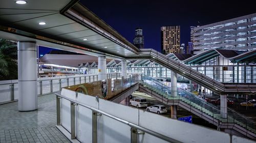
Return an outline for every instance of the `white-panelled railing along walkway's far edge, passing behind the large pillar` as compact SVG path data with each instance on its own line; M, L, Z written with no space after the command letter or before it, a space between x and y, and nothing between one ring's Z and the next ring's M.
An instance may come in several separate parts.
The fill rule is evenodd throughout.
M107 78L119 77L120 73L107 73ZM81 74L79 76L43 77L37 79L37 94L44 95L58 92L70 85L93 82L98 80L98 74ZM4 80L0 83L0 104L18 99L18 80Z

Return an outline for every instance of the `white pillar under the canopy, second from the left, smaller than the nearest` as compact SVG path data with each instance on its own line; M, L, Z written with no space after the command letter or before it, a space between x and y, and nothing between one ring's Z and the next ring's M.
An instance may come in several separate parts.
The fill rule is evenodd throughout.
M98 79L103 80L106 79L106 57L99 56L98 57Z

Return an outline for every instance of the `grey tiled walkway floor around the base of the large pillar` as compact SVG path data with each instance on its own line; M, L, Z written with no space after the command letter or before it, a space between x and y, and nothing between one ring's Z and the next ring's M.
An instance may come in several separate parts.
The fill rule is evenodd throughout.
M56 96L38 97L38 110L19 112L18 102L0 105L0 142L69 142L56 125Z

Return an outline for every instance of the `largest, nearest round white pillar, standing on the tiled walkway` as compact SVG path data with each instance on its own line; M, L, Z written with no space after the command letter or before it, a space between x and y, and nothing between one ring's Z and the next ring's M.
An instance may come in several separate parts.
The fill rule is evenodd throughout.
M37 109L37 61L33 41L18 42L18 110Z

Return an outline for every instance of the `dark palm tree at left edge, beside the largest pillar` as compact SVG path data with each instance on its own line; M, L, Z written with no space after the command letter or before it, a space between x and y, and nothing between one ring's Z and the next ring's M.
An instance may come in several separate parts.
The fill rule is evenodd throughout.
M0 80L17 79L17 71L16 44L0 39Z

